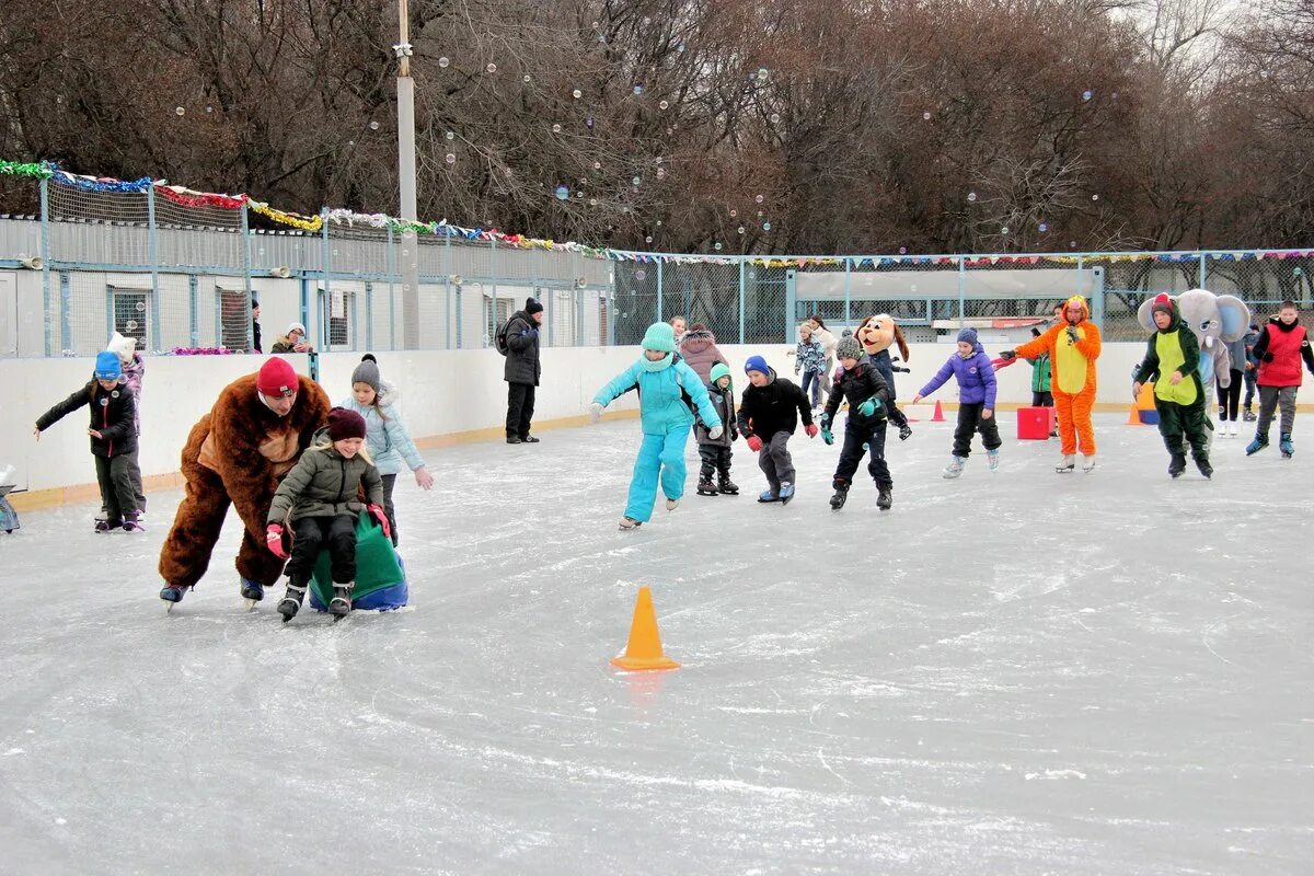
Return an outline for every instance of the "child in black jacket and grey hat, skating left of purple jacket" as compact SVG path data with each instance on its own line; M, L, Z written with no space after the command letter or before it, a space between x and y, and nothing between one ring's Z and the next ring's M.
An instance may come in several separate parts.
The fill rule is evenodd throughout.
M871 452L867 471L876 482L876 507L888 511L894 504L894 481L890 466L886 465L886 426L890 416L890 386L886 385L879 369L862 355L862 344L857 338L845 338L834 348L840 360L834 389L821 414L821 440L834 444L830 424L840 411L840 402L849 399L849 419L844 427L844 450L840 465L834 470L834 495L830 507L838 511L849 498L849 486L858 470L865 450Z

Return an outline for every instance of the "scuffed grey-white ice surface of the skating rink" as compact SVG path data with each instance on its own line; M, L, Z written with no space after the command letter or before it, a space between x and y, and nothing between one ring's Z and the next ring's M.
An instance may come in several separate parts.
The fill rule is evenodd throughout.
M993 474L940 477L951 423L892 440L887 514L865 478L832 512L800 432L790 506L737 443L740 496L691 465L633 533L636 420L431 450L411 607L338 625L243 611L234 515L166 615L180 491L146 535L26 514L0 872L1311 872L1314 418L1173 482L1154 428L1099 416L1058 475L1001 416ZM640 584L678 671L607 665Z

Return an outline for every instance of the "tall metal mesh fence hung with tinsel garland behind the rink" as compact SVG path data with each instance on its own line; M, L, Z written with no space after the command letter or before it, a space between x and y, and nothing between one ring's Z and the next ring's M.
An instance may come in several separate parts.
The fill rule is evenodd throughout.
M13 181L9 181L12 185ZM683 315L729 343L781 343L820 314L830 328L890 313L912 340L958 326L1047 317L1085 294L1109 340L1144 336L1137 307L1202 286L1257 315L1309 307L1314 251L941 256L724 256L511 246L336 221L254 227L221 209L146 192L39 186L39 213L0 217L0 355L91 355L109 334L154 353L247 352L292 323L321 351L403 347L401 264L418 247L418 347L487 347L499 322L543 301L547 345L635 344Z

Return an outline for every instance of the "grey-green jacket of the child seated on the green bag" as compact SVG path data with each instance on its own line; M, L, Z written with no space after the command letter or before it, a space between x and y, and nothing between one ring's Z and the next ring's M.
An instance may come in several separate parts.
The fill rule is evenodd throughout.
M315 440L325 437L321 429ZM357 515L365 510L357 495L361 483L369 504L384 504L384 482L373 462L356 454L343 458L336 449L310 448L279 485L269 504L268 523L294 523L302 517L335 517ZM290 516L289 516L290 512Z

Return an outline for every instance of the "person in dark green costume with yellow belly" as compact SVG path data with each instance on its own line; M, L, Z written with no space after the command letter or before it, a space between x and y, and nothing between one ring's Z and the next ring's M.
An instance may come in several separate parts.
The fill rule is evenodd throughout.
M1150 336L1144 359L1133 376L1131 398L1141 395L1142 383L1155 381L1154 407L1159 412L1159 435L1168 448L1168 474L1179 478L1187 470L1181 441L1185 435L1196 468L1212 478L1205 387L1200 382L1200 339L1177 315L1168 296L1158 296L1150 313L1158 331Z

